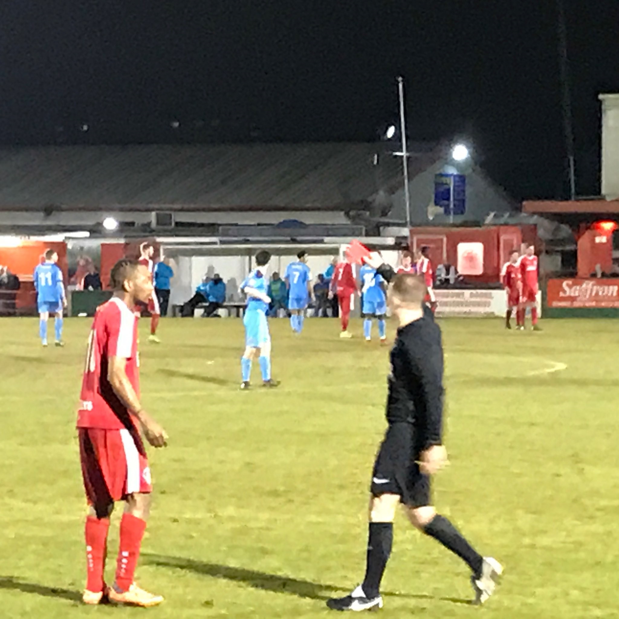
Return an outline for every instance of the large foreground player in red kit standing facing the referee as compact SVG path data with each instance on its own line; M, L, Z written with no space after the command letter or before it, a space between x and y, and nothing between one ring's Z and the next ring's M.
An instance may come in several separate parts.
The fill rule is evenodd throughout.
M85 541L85 604L156 606L163 601L140 589L134 572L150 508L149 462L141 432L154 447L167 435L142 409L137 353L137 301L153 292L150 274L124 258L111 271L114 296L97 309L90 331L77 414L82 477L89 503ZM115 501L125 501L113 586L103 580L110 515Z

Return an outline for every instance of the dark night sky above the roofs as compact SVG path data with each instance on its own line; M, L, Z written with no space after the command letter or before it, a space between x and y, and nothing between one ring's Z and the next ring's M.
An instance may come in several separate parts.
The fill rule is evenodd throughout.
M619 0L565 8L577 191L595 194ZM469 136L514 197L566 196L556 49L555 0L5 0L0 142L368 141L402 74L409 139Z

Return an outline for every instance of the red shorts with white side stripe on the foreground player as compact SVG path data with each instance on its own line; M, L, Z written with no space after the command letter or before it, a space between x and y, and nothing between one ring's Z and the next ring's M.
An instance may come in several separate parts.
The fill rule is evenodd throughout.
M149 461L137 430L79 428L84 490L91 505L152 491Z

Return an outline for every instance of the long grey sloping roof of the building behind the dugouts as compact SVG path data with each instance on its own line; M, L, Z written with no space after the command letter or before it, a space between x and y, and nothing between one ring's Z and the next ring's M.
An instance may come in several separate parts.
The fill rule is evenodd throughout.
M400 183L390 145L62 146L0 150L0 209L337 209ZM431 145L413 145L411 162ZM423 165L422 165L423 167ZM390 193L390 191L389 191Z

